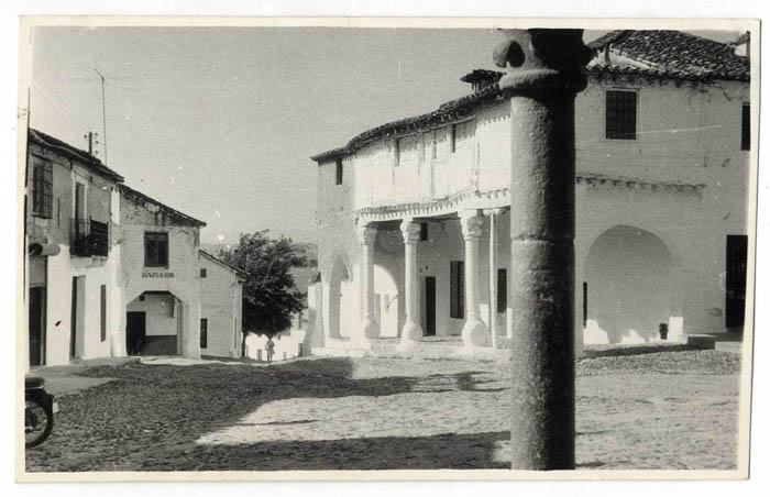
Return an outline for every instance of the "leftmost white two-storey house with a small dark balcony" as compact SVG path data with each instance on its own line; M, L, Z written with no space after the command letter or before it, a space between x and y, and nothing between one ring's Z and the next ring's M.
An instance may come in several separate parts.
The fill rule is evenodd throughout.
M114 248L123 178L36 130L26 153L29 365L110 355L120 327Z

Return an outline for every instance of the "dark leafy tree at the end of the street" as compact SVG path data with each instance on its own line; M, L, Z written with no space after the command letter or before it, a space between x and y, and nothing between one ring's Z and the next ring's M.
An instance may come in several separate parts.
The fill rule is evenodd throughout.
M292 240L271 239L270 230L242 234L238 248L222 251L228 264L249 276L243 285L243 342L251 332L273 338L292 325L292 314L299 312L305 296L297 289L289 270L307 261L292 248Z

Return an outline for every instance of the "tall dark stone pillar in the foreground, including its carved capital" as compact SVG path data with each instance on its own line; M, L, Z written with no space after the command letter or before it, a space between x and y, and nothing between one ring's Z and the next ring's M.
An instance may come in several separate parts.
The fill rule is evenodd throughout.
M574 98L582 30L504 30L510 99L512 467L574 468Z

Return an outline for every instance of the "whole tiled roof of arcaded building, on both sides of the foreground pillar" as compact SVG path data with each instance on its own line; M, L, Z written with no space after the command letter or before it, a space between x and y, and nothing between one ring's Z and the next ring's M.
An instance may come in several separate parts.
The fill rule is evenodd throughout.
M713 79L748 81L749 79L748 59L735 55L734 47L679 31L613 31L591 42L588 47L600 52L607 45L610 49L650 67L598 63L584 69L588 75L617 74L696 81ZM504 74L497 70L474 69L460 79L465 82L476 82L482 79L499 80ZM442 122L449 123L469 115L482 102L502 97L503 92L494 82L474 93L442 103L432 112L388 122L364 131L345 146L310 158L317 163L329 161L355 152L376 140L408 134L420 129L440 125Z

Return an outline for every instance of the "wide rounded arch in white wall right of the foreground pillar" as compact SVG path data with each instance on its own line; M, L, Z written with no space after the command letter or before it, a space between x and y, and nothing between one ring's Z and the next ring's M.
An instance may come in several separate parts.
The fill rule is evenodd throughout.
M660 238L617 225L588 250L584 281L585 343L640 343L660 338L674 316L674 267Z

